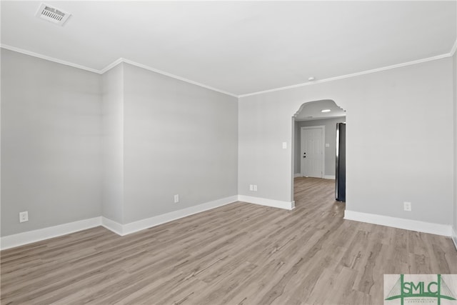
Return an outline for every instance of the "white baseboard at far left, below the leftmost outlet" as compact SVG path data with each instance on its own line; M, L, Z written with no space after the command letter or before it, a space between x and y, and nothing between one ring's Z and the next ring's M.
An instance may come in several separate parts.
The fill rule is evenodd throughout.
M58 226L49 226L44 229L37 229L23 233L13 234L1 237L0 249L10 249L24 244L31 244L44 239L71 234L77 231L94 228L101 225L101 217L84 219L80 221L69 222L68 224L59 224Z

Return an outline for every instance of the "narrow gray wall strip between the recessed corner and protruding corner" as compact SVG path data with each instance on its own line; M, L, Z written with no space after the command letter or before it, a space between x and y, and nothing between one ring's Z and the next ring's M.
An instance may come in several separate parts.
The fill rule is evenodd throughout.
M102 215L124 223L124 64L102 76Z

